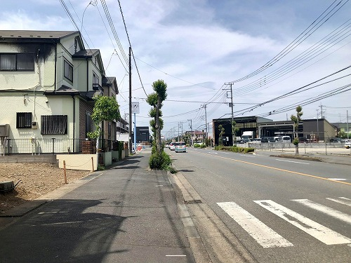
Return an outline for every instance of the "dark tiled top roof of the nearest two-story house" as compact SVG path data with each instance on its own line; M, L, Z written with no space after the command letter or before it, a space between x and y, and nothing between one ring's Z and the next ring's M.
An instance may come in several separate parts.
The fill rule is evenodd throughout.
M0 30L2 39L61 39L78 31Z

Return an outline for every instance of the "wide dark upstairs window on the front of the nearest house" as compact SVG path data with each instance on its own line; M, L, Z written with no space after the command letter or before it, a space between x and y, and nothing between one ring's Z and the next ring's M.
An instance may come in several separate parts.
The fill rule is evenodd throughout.
M34 71L34 53L0 54L1 71Z

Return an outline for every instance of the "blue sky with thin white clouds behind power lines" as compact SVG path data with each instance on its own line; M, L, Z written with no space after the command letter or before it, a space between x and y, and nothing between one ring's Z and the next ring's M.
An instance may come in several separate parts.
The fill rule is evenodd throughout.
M0 29L81 31L117 78L127 121L131 44L133 121L149 126L145 99L161 79L171 137L205 123L212 133L213 119L232 116L231 97L234 117L286 121L302 104L302 119L347 122L350 13L349 0L2 0Z

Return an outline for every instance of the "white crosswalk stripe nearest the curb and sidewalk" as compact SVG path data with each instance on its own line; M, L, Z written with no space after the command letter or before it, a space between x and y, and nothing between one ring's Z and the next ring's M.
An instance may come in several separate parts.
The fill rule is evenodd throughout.
M256 217L234 202L217 203L225 213L230 215L246 232L248 232L263 248L289 247L293 244L260 222Z

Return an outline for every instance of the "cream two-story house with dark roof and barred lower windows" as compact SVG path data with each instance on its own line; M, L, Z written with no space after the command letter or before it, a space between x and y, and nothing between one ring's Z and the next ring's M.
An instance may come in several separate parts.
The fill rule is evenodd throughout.
M94 95L118 94L80 32L0 31L0 139L6 153L79 152ZM103 139L116 139L116 123ZM1 134L2 133L2 134Z

